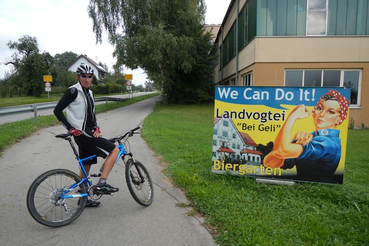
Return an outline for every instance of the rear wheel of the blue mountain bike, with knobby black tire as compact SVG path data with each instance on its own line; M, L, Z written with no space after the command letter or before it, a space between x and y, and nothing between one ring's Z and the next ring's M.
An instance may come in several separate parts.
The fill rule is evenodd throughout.
M31 216L38 223L50 227L60 227L74 221L85 209L87 197L57 199L62 190L80 181L77 174L66 169L54 169L38 176L27 193L27 208ZM71 192L87 193L86 185L81 183ZM61 203L57 204L58 201Z

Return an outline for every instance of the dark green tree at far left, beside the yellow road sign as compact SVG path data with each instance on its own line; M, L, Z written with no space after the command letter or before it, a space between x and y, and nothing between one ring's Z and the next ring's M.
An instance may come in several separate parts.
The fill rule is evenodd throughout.
M43 91L42 76L49 74L53 57L48 53L39 53L37 39L28 35L22 36L18 42L7 43L11 50L18 52L12 55L12 60L5 64L13 64L15 68L16 85L27 90L27 95L40 95Z

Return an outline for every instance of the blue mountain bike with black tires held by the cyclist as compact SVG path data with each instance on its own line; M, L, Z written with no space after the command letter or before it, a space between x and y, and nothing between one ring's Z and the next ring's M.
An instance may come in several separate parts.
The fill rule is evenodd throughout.
M128 142L129 137L139 133L135 132L139 128L136 127L123 136L111 138L110 141L119 144L120 152L115 165L119 165L117 163L119 158L123 159L125 180L133 199L142 206L149 206L154 199L153 183L145 166L140 161L135 160L133 154L130 153ZM77 157L79 167L86 178L81 179L76 173L66 169L54 169L41 174L33 181L28 190L28 211L37 222L46 226L60 227L71 223L82 214L88 197L92 200L98 200L103 194L106 194L98 193L94 189L96 185L92 185L91 177L99 177L101 173L87 175L83 166L83 163L97 156L92 155L80 159L71 136L72 134L68 133L56 137L69 141ZM111 195L113 194L111 193Z

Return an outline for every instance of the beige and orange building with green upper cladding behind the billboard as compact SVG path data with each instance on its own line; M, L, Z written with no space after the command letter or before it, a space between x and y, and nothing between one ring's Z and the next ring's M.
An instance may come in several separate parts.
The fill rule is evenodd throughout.
M351 87L350 127L369 127L368 0L232 0L214 84Z

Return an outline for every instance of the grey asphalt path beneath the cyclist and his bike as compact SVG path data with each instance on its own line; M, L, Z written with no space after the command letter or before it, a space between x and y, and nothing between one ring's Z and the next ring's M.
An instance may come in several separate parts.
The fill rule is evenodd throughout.
M98 114L101 132L113 137L142 125L155 107L153 98L106 113ZM67 141L55 138L66 133L61 125L42 129L5 150L0 157L0 245L108 245L108 246L212 246L211 234L202 226L201 217L187 216L191 208L182 191L163 178L162 167L139 134L130 138L131 152L148 169L154 183L154 201L142 207L131 197L124 178L124 168L116 165L108 183L120 190L104 195L101 205L86 208L67 226L46 227L28 212L28 189L41 173L64 168L76 173L78 163ZM98 172L103 160L92 166ZM119 164L123 164L120 163ZM97 182L98 178L93 178Z

